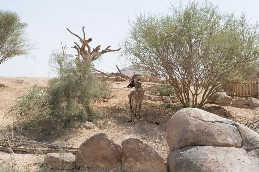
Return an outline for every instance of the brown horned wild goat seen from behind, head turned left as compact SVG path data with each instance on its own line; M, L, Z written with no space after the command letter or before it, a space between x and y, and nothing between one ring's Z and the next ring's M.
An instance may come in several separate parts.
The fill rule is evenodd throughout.
M131 83L127 86L127 88L133 88L133 87L136 88L135 90L131 91L129 94L130 113L131 113L129 122L133 122L133 123L135 123L134 119L136 117L137 104L139 104L139 117L141 118L141 103L144 97L144 91L141 86L141 83L138 82L139 81L138 79L134 81L134 79L137 76L142 76L142 75L138 75L138 74L134 75L131 79ZM133 108L132 108L132 105L133 105ZM134 113L134 116L133 116L133 113ZM133 116L133 120L132 120L132 116Z

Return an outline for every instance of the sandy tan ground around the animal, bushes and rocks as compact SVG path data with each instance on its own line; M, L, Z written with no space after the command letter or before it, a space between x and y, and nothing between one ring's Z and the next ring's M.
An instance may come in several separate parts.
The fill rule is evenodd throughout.
M0 87L0 129L2 136L5 133L5 125L3 123L3 117L6 112L15 104L16 98L23 94L28 93L29 89L34 84L41 86L47 85L48 78L15 78L15 77L0 77L0 83L7 87ZM129 123L130 108L128 103L128 94L132 89L126 88L126 82L112 83L113 89L116 92L115 98L106 101L97 101L94 104L94 108L103 112L103 117L100 121L104 122L104 125L100 128L86 130L86 129L69 129L66 134L63 134L58 138L51 138L43 140L44 142L51 144L60 144L64 146L79 147L87 138L91 137L97 132L104 132L116 143L121 142L130 137L138 137L150 145L167 159L169 152L167 141L165 139L165 132L167 124L172 117L172 114L176 112L175 109L167 109L159 107L162 102L153 102L150 100L143 100L142 102L142 119L137 116L137 123ZM179 104L173 104L175 106ZM212 104L206 104L206 106L213 106ZM231 113L231 119L241 124L245 124L254 114L258 114L258 109L240 109L231 106L224 106L224 108ZM159 125L155 125L153 122L160 122ZM17 135L16 135L17 136ZM22 136L19 136L22 137ZM41 140L42 141L42 140ZM13 166L15 161L17 162L20 171L40 171L39 165L43 161L44 155L40 154L24 154L15 153L15 159L13 154L0 151L0 167L1 166Z

